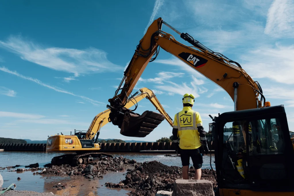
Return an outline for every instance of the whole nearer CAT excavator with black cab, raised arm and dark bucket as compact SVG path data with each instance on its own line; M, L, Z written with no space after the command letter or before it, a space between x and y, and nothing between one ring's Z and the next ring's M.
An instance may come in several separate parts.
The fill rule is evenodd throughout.
M192 46L184 45L163 31L163 24ZM126 108L134 86L148 63L156 59L160 48L223 88L234 101L234 111L211 116L215 140L215 194L294 195L294 145L284 106L270 106L258 81L254 81L239 63L212 51L188 33L181 33L162 18L148 27L115 95L108 100L108 121L117 125L122 135L132 137L145 137L162 122L164 115L159 113L145 111L139 115Z

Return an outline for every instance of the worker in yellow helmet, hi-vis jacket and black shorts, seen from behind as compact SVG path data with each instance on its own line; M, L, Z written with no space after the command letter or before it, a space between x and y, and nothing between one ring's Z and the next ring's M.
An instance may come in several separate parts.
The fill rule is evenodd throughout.
M203 150L208 154L206 132L203 129L201 116L198 112L192 110L194 98L193 94L188 93L183 96L183 110L175 115L173 122L173 143L176 144L177 153L181 154L182 176L185 180L189 179L190 157L195 167L194 179L200 180L203 163L202 150L200 148L202 145ZM178 137L180 137L179 143Z

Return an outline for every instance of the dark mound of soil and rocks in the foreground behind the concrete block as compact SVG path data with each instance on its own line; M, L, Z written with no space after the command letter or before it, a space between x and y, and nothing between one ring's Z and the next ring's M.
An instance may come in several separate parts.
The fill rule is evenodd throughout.
M158 190L172 191L176 179L181 179L182 168L176 166L167 166L158 161L144 162L136 165L135 169L127 172L126 179L118 184L106 182L106 187L110 188L134 188L135 191L129 195L155 195ZM195 169L189 169L189 176L194 177ZM216 184L213 173L209 169L202 170L203 180L210 180Z

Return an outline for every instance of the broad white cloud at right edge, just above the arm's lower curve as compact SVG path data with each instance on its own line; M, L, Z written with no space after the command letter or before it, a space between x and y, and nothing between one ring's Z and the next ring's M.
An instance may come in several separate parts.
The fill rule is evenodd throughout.
M270 78L286 84L294 84L294 45L275 47L267 45L250 50L240 58L242 67L252 78Z

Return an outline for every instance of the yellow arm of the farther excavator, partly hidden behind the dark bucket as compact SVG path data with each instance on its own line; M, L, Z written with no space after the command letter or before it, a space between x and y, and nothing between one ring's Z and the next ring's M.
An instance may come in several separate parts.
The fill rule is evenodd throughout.
M128 103L126 103L125 107L131 108L133 105L136 105L136 103L138 103L144 98L150 100L150 102L155 106L156 110L158 110L162 115L164 115L166 121L171 125L171 127L173 127L172 118L168 115L168 113L166 113L166 111L156 98L155 94L148 88L141 88L138 92L136 92L133 95L133 98L131 98L128 101ZM98 139L100 129L108 123L109 114L110 109L105 110L95 116L95 118L92 120L90 127L88 128L85 139L93 139L95 135L97 135L96 140Z

